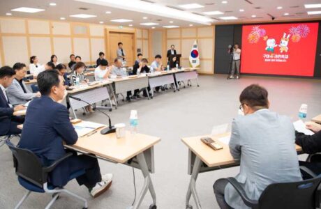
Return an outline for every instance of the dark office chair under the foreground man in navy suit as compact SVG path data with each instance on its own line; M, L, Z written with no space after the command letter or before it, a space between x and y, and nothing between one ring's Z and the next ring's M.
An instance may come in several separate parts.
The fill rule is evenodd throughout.
M6 145L13 153L13 165L15 167L15 173L18 176L18 181L20 185L22 185L22 187L28 190L27 194L25 194L17 204L17 206L15 206L16 209L20 208L22 203L27 199L31 192L52 194L52 199L45 207L46 209L52 206L54 201L58 199L61 192L80 199L84 202L84 208L88 208L86 199L78 196L77 194L74 194L73 192L68 191L67 189L55 187L54 185L51 185L47 182L48 174L52 170L54 170L54 168L57 167L60 162L73 155L72 153L67 153L66 155L64 155L64 157L56 160L49 167L43 167L39 158L30 150L17 148L9 140L6 140ZM84 169L72 173L69 176L69 180L73 180L74 178L77 178L82 174L84 174Z

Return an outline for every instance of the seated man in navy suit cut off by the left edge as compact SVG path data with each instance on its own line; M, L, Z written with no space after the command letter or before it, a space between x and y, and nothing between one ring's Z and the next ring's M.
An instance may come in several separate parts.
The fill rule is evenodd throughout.
M9 66L0 68L0 136L20 134L21 130L17 128L24 122L24 118L13 116L14 111L26 109L24 106L17 105L13 107L8 100L6 88L15 79L15 70Z

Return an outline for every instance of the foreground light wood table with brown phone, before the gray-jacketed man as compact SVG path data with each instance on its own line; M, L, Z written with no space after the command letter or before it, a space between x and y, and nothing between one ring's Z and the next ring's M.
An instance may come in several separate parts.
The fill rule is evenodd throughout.
M239 166L239 162L234 161L232 155L230 154L230 148L226 141L225 143L220 141L220 139L226 139L229 136L230 133L226 132L223 134L217 134L215 136L204 135L181 139L181 141L183 141L183 143L188 147L188 175L191 175L191 180L186 194L186 209L193 208L191 205L189 205L192 194L196 208L202 208L195 187L199 173ZM223 149L213 150L200 140L202 137L211 137L217 144L223 146ZM300 146L297 146L296 144L293 144L293 146L295 146L298 154L303 153Z

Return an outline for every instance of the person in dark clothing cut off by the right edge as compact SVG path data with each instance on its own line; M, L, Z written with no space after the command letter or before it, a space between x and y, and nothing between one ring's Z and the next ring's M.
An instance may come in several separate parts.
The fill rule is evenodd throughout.
M295 132L295 144L301 146L304 153L316 154L321 152L321 125L314 122L306 123L306 128L312 130L315 134L306 135L304 133ZM299 161L301 166L307 167L313 173L321 174L321 155L312 155L310 162ZM311 178L303 172L303 178Z

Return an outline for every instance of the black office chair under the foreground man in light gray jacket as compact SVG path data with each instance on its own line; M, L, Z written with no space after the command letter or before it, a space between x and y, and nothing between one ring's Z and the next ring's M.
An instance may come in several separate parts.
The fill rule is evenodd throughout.
M308 169L305 170L308 171ZM258 201L249 199L235 178L225 179L237 190L246 206L253 209L312 209L320 206L318 189L321 182L320 176L292 183L271 184L264 189Z

